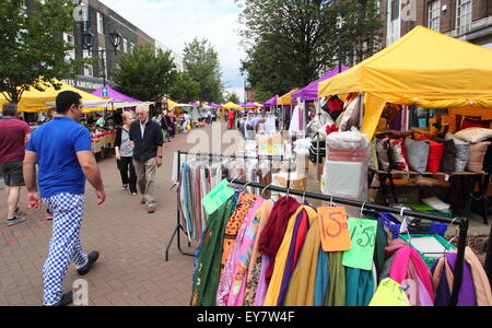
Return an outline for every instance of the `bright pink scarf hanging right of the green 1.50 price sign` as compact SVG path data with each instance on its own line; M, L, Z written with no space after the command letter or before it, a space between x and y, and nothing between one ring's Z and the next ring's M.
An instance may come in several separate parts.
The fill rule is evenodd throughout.
M411 246L403 247L398 250L395 261L393 262L391 270L389 271L389 278L396 282L402 284L408 277L409 262L412 261L417 276L421 279L425 290L434 298L434 289L432 286L431 271L423 261L420 254ZM415 277L415 274L413 274Z

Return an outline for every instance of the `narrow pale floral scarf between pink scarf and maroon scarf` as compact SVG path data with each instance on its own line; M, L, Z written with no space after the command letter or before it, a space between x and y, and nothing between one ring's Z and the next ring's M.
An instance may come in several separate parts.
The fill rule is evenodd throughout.
M248 274L246 279L246 289L244 294L244 306L253 306L255 304L256 292L261 274L261 259L262 255L259 251L259 235L263 231L263 227L268 223L273 203L271 201L263 201L260 213L260 223L258 226L257 238L255 241L255 247L253 248L251 258L249 260Z

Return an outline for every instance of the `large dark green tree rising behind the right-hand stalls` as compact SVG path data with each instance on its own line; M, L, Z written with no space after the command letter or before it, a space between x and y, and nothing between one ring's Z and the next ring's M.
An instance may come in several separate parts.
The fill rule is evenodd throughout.
M364 20L359 0L249 0L241 22L247 54L242 71L265 98L309 84L338 66L340 51L349 66L373 55L382 26L376 0L368 0Z

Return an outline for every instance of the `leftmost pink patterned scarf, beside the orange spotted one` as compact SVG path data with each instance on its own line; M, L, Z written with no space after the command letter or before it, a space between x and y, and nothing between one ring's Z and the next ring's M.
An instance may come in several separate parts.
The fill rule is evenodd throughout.
M243 225L241 226L239 232L237 233L237 237L234 243L234 248L231 251L227 261L225 262L224 269L222 270L221 280L219 282L219 289L216 293L216 303L215 303L216 306L227 306L229 295L232 291L233 283L236 278L234 273L241 260L239 257L245 239L245 234L247 229L251 224L253 220L255 219L255 215L258 212L262 201L263 201L262 198L259 198L255 202L255 206L249 209L248 214L244 219Z

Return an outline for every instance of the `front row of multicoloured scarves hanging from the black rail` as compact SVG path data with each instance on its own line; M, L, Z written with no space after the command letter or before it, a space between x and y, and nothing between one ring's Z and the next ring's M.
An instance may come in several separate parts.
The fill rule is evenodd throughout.
M192 171L195 165L189 167ZM289 196L272 201L245 188L235 189L234 196L204 222L194 265L191 305L368 306L380 294L379 282L386 278L405 290L407 304L450 305L456 253L443 254L431 273L411 243L398 238L387 244L380 222L372 225L367 235L371 246L363 250L360 238L366 232L352 226L350 220L352 249L327 253L320 230L327 218L319 218L315 208ZM366 220L379 216L375 210L370 215L373 219ZM372 262L370 270L348 261L353 257L354 243L365 251L356 255L358 259ZM491 305L489 280L470 248L465 260L459 305Z

